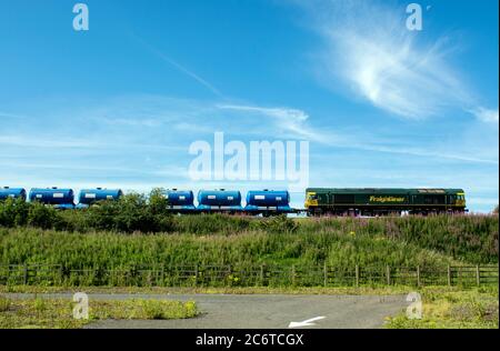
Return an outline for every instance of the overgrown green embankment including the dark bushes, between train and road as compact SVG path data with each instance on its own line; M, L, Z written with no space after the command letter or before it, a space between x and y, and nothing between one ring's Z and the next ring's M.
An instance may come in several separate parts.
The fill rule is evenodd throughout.
M13 281L7 283L179 285L182 280L182 285L320 285L326 280L321 272L326 264L331 269L330 281L352 285L357 265L361 280L377 274L377 283L383 283L387 265L403 268L407 275L407 268L411 269L409 279L416 281L417 267L423 277L434 271L442 275L448 265L498 262L497 215L172 217L163 213L161 199L156 201L126 197L87 211L64 212L37 203L0 203L0 267L60 267L44 278L36 272L32 279L31 271L19 271L16 277L9 273ZM58 230L61 228L66 230ZM259 272L262 264L269 269ZM182 279L167 270L180 265L191 267ZM221 277L207 269L194 273L194 265L230 269ZM82 269L92 272L72 273ZM149 275L138 278L143 270L149 270L144 273ZM441 275L446 283L446 272L444 280Z

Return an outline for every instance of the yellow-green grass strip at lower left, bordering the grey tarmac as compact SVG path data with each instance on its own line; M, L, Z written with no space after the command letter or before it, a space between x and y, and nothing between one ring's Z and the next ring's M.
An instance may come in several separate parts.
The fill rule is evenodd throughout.
M90 301L89 319L74 319L74 303L62 299L0 297L0 329L74 329L98 320L184 319L198 314L194 302L168 300Z

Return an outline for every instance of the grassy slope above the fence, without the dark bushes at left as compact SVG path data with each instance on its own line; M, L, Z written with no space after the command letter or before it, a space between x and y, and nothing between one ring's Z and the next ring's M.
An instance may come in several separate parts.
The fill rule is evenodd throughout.
M444 267L498 262L499 221L493 215L301 221L196 215L170 220L176 230L160 234L0 228L0 264Z

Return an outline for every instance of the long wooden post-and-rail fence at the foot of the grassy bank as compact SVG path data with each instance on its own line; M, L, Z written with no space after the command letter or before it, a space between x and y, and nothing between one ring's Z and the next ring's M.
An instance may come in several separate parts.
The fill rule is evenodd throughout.
M57 287L361 287L498 284L498 265L133 265L69 269L58 264L0 265L0 285Z

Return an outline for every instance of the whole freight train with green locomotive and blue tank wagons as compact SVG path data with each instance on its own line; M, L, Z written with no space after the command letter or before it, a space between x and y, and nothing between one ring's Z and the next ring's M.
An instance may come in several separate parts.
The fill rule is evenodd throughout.
M241 213L250 215L278 215L306 213L316 215L388 215L463 213L466 193L462 189L334 189L308 188L304 209L290 207L290 193L286 190L248 191L246 205L242 205L238 190L200 190L197 202L191 190L163 190L168 210L172 213ZM38 201L56 209L87 209L99 201L116 201L123 195L119 189L83 189L74 202L72 189L33 188L27 193L21 188L0 188L0 201L7 198L21 198Z

